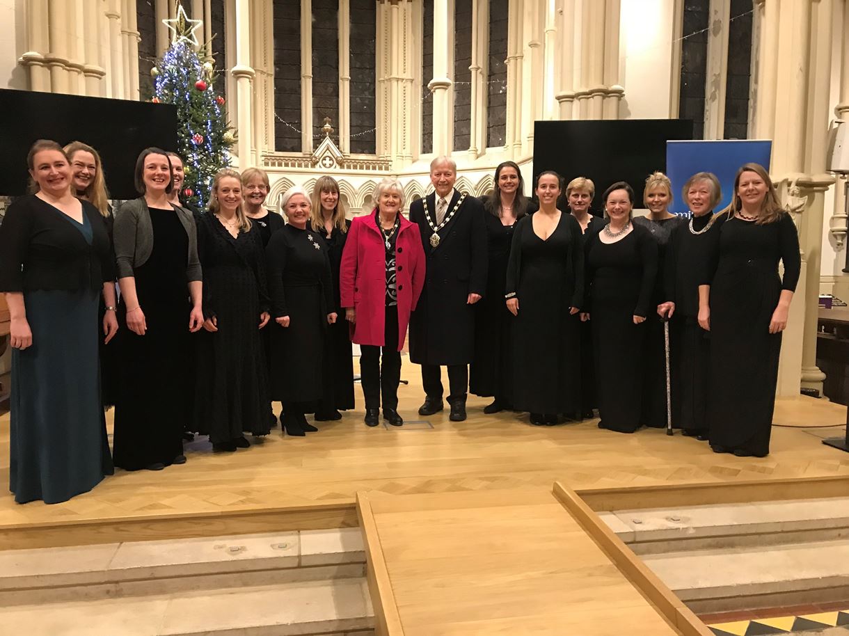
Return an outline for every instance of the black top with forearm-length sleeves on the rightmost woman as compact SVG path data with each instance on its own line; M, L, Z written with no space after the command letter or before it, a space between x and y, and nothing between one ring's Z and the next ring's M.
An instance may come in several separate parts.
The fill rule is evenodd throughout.
M801 273L799 234L796 223L787 213L778 221L756 223L737 217L717 219L719 227L711 228L709 257L701 284L711 284L720 271L756 267L778 275L779 261L784 263L781 289L796 291Z

